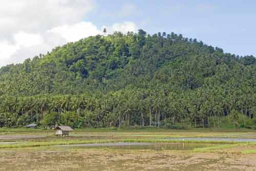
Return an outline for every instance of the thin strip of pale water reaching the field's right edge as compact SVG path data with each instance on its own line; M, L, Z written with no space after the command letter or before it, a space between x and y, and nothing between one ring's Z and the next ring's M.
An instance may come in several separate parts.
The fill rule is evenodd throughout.
M256 142L253 138L165 138L166 140L179 140L179 141L225 141L225 142Z

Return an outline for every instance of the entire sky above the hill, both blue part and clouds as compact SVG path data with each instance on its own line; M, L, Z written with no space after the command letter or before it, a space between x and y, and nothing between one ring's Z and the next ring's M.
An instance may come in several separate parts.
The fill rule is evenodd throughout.
M1 0L0 67L81 38L120 31L182 34L256 56L252 0Z

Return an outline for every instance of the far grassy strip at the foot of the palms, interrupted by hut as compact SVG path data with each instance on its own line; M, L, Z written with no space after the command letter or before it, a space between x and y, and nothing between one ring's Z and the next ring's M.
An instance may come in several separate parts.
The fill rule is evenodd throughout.
M242 129L239 132L232 130L209 130L209 129L191 129L191 130L170 130L155 127L130 127L108 129L75 129L71 132L74 139L160 139L160 138L190 138L190 137L227 137L227 138L255 138L256 132L248 132L252 130ZM247 131L247 132L246 132ZM44 135L45 139L52 139L54 135L52 130L44 129L25 129L25 128L0 128L0 135ZM56 138L55 138L56 139Z

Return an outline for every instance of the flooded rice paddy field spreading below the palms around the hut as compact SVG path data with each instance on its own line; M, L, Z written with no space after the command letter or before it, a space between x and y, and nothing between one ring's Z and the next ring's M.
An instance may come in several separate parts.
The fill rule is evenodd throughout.
M0 170L256 170L256 132L0 129Z

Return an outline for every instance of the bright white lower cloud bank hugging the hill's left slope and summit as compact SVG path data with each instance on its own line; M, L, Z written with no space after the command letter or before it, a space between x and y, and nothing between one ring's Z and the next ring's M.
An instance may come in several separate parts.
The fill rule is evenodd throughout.
M116 31L122 33L136 32L137 26L132 22L116 23L106 27L106 30L108 34ZM98 29L91 22L62 25L41 34L19 32L13 35L13 42L0 41L0 67L10 63L22 62L26 58L51 51L56 46L97 34L103 34L102 29Z

